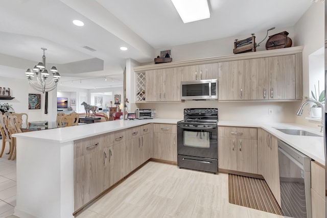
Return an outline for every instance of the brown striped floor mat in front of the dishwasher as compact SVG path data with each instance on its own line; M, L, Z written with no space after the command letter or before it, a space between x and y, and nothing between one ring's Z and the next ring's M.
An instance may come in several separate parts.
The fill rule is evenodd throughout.
M228 196L231 204L283 215L263 179L228 174Z

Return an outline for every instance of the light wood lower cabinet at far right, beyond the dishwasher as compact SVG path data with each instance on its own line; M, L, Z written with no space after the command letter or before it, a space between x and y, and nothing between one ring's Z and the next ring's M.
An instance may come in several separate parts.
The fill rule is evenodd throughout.
M312 217L325 218L325 168L311 161L311 202Z

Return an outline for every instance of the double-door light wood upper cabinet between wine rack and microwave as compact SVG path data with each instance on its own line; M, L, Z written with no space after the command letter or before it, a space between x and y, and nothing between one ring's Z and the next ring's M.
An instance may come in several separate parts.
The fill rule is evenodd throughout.
M180 101L179 67L146 71L146 101Z

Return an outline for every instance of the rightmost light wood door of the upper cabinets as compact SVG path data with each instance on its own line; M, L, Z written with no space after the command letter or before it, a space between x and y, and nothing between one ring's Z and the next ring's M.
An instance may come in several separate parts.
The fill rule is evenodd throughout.
M295 99L295 55L268 58L269 99Z

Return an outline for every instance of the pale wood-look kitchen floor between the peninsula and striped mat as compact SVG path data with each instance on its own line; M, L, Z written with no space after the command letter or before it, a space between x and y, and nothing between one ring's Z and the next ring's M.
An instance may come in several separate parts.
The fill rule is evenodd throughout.
M148 162L78 213L77 218L228 217L279 218L273 213L228 203L228 175Z

